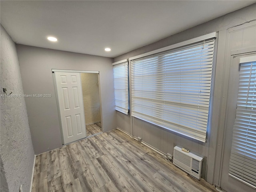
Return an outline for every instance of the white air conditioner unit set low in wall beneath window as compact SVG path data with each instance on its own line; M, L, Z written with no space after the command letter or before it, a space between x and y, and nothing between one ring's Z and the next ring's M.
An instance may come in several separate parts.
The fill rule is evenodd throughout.
M202 157L184 152L178 146L174 147L173 164L198 180L201 178L202 161Z

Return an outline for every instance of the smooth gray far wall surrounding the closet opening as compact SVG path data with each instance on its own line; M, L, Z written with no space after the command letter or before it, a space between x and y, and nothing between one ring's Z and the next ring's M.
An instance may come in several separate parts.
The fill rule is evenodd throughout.
M25 46L16 46L25 94L51 94L48 98L25 98L32 142L36 154L62 146L52 69L100 72L102 128L116 128L112 58Z

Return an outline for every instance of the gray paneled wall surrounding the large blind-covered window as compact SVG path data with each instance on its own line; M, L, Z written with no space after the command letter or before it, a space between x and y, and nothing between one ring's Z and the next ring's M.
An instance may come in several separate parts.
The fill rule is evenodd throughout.
M173 154L173 147L180 145L182 147L188 148L195 154L203 156L204 162L202 167L202 177L206 178L206 180L211 184L219 185L219 175L214 175L214 172L217 172L216 170L218 170L220 167L221 156L219 154L222 151L222 146L219 146L216 141L218 138L218 132L224 129L224 120L226 115L225 112L224 114L220 113L221 110L223 110L223 102L226 100L226 93L223 92L223 85L225 83L223 80L226 80L223 74L223 70L226 65L224 63L226 56L226 30L230 27L256 20L255 10L256 4L252 4L251 6L236 12L232 12L220 18L216 18L178 34L169 36L168 38L162 39L148 46L144 46L114 58L114 62L117 62L132 56L202 36L210 32L218 32L218 38L216 40L217 54L215 52L216 75L214 80L214 93L212 93L212 123L208 133L208 142L203 143L191 138L187 138L185 136L181 136L179 134L175 134L120 112L116 112L117 126L129 134L132 134L133 136L142 138L144 142L150 144L154 148L164 153ZM222 114L222 116L220 116L220 114ZM215 162L219 163L215 164Z

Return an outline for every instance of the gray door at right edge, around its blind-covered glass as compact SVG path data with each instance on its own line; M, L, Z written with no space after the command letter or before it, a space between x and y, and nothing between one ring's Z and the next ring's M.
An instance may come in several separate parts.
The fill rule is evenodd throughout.
M224 138L224 153L222 161L222 173L220 179L220 187L227 192L255 192L255 189L232 178L229 176L229 161L232 146L232 135L233 127L236 118L236 103L239 88L239 76L240 76L240 58L248 57L255 54L244 54L240 56L231 56L231 66L230 66L230 77L228 85L228 102L226 108L226 133Z

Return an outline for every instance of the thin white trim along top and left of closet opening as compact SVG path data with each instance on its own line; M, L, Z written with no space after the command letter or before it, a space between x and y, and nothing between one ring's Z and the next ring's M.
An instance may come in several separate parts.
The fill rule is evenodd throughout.
M57 103L57 108L58 108L58 116L59 116L59 123L60 123L60 132L61 132L61 138L62 138L62 145L66 145L66 144L64 144L64 138L63 138L62 122L61 122L61 116L60 116L60 103L59 103L59 99L58 99L58 91L57 91L57 82L56 82L55 72L75 72L75 73L97 73L97 74L99 74L99 71L52 69L52 79L53 79L54 91L55 91L55 96L56 96L56 103ZM83 110L84 110L84 108L83 108Z

